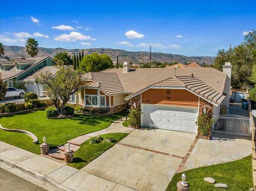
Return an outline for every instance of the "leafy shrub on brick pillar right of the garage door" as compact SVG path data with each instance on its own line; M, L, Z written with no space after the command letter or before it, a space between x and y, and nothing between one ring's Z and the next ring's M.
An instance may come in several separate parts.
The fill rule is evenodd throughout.
M214 119L209 114L200 114L197 117L196 125L198 126L198 134L201 136L209 136L212 130Z

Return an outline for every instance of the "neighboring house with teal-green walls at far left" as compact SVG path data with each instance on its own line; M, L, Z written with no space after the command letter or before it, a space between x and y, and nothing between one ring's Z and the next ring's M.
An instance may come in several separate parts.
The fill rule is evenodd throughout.
M43 95L44 86L36 83L32 77L37 71L42 71L45 67L51 72L55 71L55 61L49 57L18 57L14 61L0 60L0 72L8 87L20 88L25 86L27 92L35 92Z

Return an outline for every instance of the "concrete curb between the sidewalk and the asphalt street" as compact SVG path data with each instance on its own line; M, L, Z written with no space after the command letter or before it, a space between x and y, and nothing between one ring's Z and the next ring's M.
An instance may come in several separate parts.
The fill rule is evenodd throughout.
M18 170L20 170L22 172L25 172L26 174L28 174L28 175L30 175L30 176L32 176L34 178L37 178L39 180L42 180L42 181L44 181L44 182L46 182L48 184L51 184L51 185L53 185L55 187L59 188L59 186L60 186L60 184L58 182L56 182L56 181L52 180L51 178L47 177L47 175L42 175L42 174L40 174L40 173L38 173L38 172L36 172L34 170L31 170L31 169L29 169L27 167L24 167L23 165L21 165L19 163L15 163L15 162L13 162L11 160L5 159L2 156L0 156L0 161L5 163L6 165L9 165L12 168L15 168L15 169L18 169ZM59 189L61 189L61 188L59 188Z

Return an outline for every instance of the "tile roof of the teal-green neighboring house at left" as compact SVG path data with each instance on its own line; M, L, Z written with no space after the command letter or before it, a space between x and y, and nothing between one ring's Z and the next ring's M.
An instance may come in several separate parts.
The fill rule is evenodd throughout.
M27 67L25 69L21 69L19 71L17 71L16 67L13 65L13 67L11 67L7 70L1 71L2 78L3 78L3 80L14 78L14 77L18 76L18 74L21 74L21 73L25 72L26 70L30 69L31 67L34 67L34 65L38 64L39 62L42 62L43 60L47 59L48 57L51 58L50 56L26 58L26 60L29 60L29 62L32 62L30 60L33 60L34 63L29 65L29 67Z

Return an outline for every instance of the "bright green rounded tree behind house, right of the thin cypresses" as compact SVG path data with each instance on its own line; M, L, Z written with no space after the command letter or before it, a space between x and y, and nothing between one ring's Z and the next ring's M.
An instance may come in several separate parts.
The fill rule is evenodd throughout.
M92 53L84 56L79 70L81 72L99 72L113 67L114 64L107 54Z

